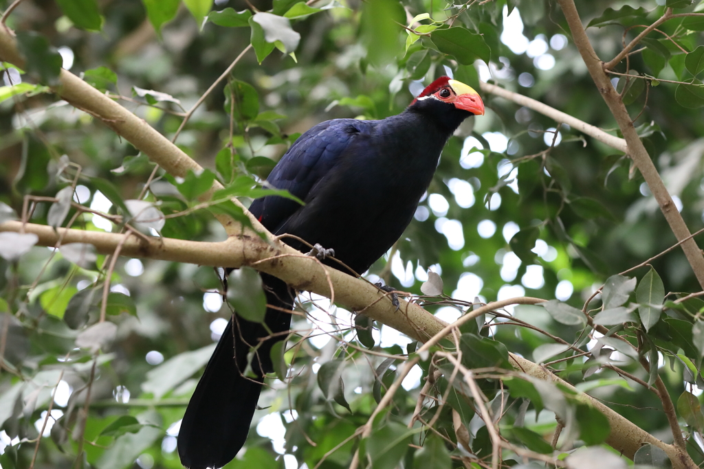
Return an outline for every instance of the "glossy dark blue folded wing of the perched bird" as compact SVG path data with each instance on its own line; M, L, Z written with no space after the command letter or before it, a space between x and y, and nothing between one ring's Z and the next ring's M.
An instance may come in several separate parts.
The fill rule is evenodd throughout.
M306 201L310 190L337 164L357 134L368 131L370 121L334 119L311 127L289 148L267 179ZM270 231L276 232L301 205L277 195L254 200L249 211Z

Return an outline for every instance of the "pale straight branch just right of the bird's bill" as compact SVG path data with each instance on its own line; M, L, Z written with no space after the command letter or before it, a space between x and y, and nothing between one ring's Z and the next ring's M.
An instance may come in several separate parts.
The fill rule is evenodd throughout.
M623 153L628 153L628 146L624 139L620 139L617 136L607 134L602 129L594 127L591 124L587 124L583 120L577 119L569 114L565 114L560 110L551 108L547 104L543 104L540 101L536 101L528 96L523 96L522 94L514 93L513 91L508 91L508 89L503 89L501 86L496 86L495 84L489 84L484 82L479 82L479 86L482 91L486 93L491 93L496 96L501 96L501 98L508 99L508 101L513 101L518 105L525 106L526 108L534 110L536 113L541 113L550 117L555 122L560 122L562 124L567 124L572 129L581 131L583 134L591 136L593 139L601 141L607 144L611 148L622 151Z

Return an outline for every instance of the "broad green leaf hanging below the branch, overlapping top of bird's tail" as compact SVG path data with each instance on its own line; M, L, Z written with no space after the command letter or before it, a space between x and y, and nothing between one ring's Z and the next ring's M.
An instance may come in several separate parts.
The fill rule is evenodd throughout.
M235 269L230 273L227 285L227 300L232 303L237 315L253 323L263 323L266 296L259 273L251 267Z

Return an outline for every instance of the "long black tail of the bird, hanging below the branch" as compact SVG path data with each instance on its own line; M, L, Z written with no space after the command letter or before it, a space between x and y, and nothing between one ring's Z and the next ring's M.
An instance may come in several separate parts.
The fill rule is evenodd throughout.
M291 309L286 283L262 274L268 304ZM269 308L265 323L277 334L265 340L252 359L256 378L243 375L247 354L259 339L270 335L259 323L230 319L186 409L178 436L181 463L191 469L221 468L232 461L249 433L249 425L263 387L263 373L273 371L272 345L286 336L291 314Z

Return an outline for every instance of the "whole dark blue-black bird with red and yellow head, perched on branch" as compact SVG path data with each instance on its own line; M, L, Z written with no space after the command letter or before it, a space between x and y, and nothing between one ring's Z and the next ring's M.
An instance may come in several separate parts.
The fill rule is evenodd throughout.
M305 240L363 273L410 224L446 142L472 115L484 115L477 91L444 76L398 115L321 122L298 137L267 179L304 204L267 195L253 200L249 211L271 233L296 236L282 239L301 252L309 249ZM227 323L181 422L177 446L187 468L220 468L237 455L264 376L273 371L272 346L289 331L295 292L275 276L260 275L266 328L236 313Z

